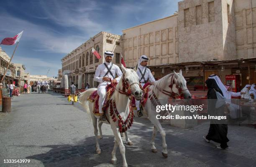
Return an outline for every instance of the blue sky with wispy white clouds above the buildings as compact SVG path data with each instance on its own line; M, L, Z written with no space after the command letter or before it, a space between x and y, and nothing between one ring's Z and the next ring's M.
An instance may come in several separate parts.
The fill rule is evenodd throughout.
M24 30L14 55L33 75L57 76L60 59L90 37L172 15L180 0L5 0L0 40ZM0 45L9 56L15 46Z

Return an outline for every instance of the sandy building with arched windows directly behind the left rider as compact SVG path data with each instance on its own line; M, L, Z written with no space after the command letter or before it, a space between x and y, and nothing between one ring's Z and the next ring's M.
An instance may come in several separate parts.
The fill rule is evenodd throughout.
M92 47L102 56L100 60L92 54ZM93 78L97 66L104 62L104 51L114 52L113 62L120 66L121 36L106 32L98 33L61 59L62 71L70 71L69 81L73 81L79 89L84 88L86 83L95 87L97 83Z

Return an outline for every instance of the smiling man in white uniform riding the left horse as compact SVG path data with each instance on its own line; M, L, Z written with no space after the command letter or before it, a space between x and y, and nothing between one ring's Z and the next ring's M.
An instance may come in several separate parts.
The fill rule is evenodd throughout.
M106 97L106 86L113 83L118 83L120 81L120 78L122 77L122 71L120 68L113 64L111 61L113 60L114 53L110 51L105 51L104 58L105 62L100 64L95 72L94 81L99 82L99 86L97 89L97 94L100 96L99 98L99 112L102 115L102 107L104 105L104 100ZM115 76L118 76L115 78Z

